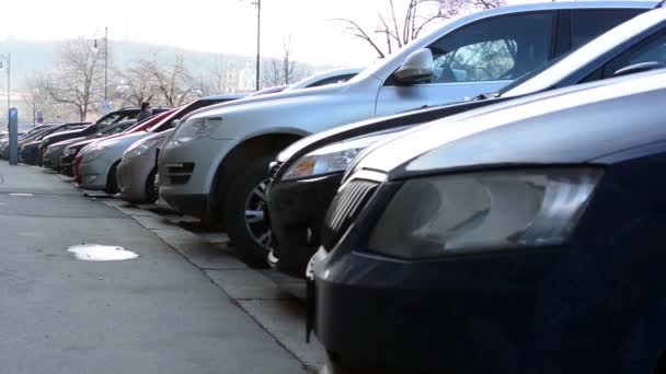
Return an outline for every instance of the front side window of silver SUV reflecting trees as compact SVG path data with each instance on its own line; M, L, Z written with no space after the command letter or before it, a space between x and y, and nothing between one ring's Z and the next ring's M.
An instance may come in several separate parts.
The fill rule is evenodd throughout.
M429 46L430 83L516 79L552 55L554 12L496 16L449 34Z

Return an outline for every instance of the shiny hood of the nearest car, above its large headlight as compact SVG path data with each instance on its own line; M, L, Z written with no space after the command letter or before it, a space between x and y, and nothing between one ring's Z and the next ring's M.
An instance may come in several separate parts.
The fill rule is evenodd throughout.
M391 137L353 170L403 178L489 165L602 163L666 139L658 122L665 96L666 72L658 71L531 95Z

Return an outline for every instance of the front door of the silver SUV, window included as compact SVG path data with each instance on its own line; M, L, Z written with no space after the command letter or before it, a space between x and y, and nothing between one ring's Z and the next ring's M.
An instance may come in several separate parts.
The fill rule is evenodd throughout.
M497 15L445 35L428 46L433 77L411 85L390 77L379 90L376 115L498 91L555 55L556 14L553 10Z

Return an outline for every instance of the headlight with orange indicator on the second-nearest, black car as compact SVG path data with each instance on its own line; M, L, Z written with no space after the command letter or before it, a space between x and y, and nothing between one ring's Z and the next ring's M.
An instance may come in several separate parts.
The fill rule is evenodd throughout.
M283 180L343 172L349 167L349 164L360 151L387 137L387 133L382 133L322 147L306 154L289 166L283 176Z

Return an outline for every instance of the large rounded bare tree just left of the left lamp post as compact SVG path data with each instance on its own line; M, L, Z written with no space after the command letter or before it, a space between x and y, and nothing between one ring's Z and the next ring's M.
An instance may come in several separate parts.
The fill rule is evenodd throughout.
M104 95L104 50L84 38L67 42L59 54L59 67L45 81L48 96L76 109L81 120Z

